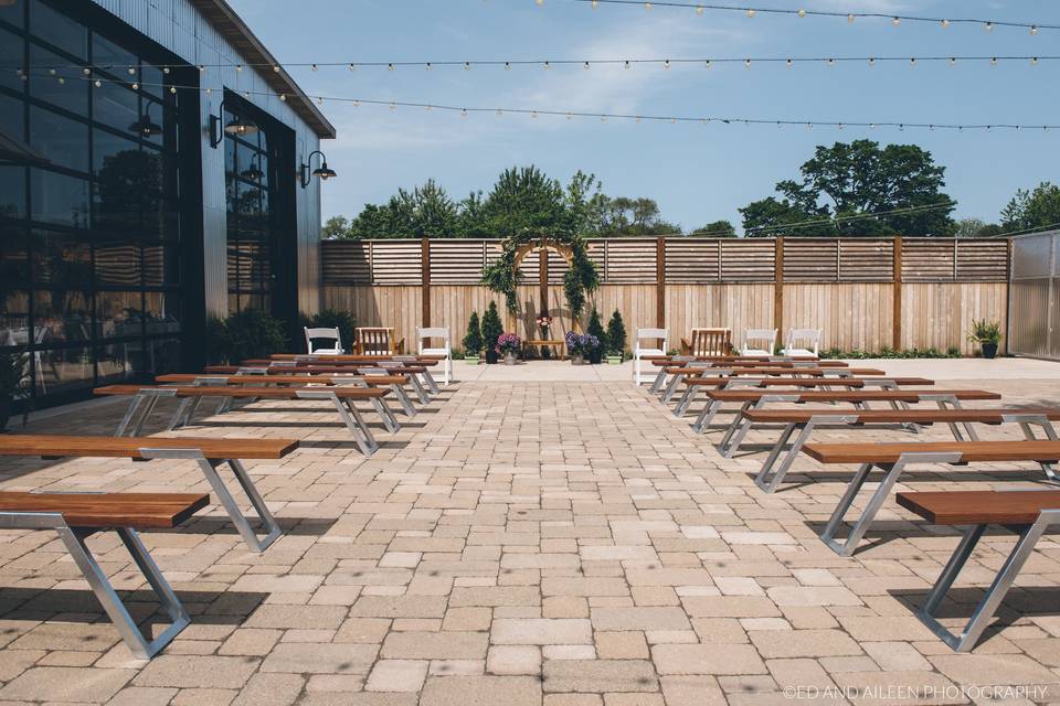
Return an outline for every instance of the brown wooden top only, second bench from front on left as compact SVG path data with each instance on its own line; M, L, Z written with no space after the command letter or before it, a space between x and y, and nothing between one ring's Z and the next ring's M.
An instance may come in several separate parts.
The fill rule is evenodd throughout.
M202 439L194 437L81 437L52 434L0 435L0 456L139 459L140 449L199 449L208 459L280 459L298 448L294 439Z

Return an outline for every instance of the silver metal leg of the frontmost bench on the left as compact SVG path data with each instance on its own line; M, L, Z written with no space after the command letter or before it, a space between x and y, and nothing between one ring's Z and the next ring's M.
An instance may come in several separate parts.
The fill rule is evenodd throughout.
M85 580L92 588L92 592L96 595L99 603L103 605L103 609L110 618L110 622L118 629L118 633L135 656L141 660L149 660L169 644L181 630L188 627L188 623L191 622L188 612L183 606L180 605L180 600L166 581L155 560L151 559L151 555L148 554L147 548L140 542L136 530L121 527L117 532L118 536L121 537L121 542L125 543L126 548L132 556L132 560L136 561L144 577L148 584L150 584L171 620L169 628L163 630L155 640L150 641L140 632L140 629L129 614L128 609L126 609L125 603L121 602L110 581L107 580L106 574L103 573L103 569L88 550L88 546L85 544L85 537L92 533L71 530L66 523L62 521L61 516L60 523L61 526L56 526L55 532L59 533L59 537L66 546L66 550L70 552L71 557L73 557L81 573L84 574Z

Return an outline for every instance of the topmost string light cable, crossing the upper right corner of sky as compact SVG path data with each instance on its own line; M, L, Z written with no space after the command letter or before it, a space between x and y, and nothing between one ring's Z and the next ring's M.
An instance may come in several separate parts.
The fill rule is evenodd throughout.
M533 0L534 4L541 7L545 4L545 0ZM848 23L854 23L856 20L887 20L893 26L899 26L903 22L913 22L913 23L930 23L936 24L943 29L950 28L953 24L971 24L978 25L987 32L992 32L995 28L1013 28L1027 30L1031 35L1037 35L1039 31L1042 30L1060 30L1060 25L1057 24L1046 24L1041 22L1016 22L1010 20L988 20L988 19L978 19L978 18L942 18L942 17L924 17L924 15L913 15L913 14L893 14L888 12L854 12L854 11L840 11L840 10L807 10L805 8L763 8L763 7L748 7L748 6L735 6L735 4L718 4L718 3L708 3L708 2L677 2L674 0L651 0L650 2L645 2L644 0L565 0L566 2L579 2L582 4L587 4L594 10L602 4L605 6L625 6L625 7L638 7L644 8L645 10L653 10L654 8L671 8L678 10L692 10L697 15L702 15L706 12L739 12L744 17L751 19L756 14L773 14L773 15L786 15L794 18L835 18L844 19Z

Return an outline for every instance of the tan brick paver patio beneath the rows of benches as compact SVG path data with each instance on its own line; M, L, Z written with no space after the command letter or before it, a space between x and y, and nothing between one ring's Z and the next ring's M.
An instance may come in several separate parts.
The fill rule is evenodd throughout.
M961 362L932 365L921 372L952 377ZM179 432L293 437L303 448L248 464L285 528L264 554L248 553L216 506L142 535L192 613L150 662L131 657L54 534L0 533L0 702L999 703L977 688L986 685L1028 688L998 692L1006 703L1060 699L1054 542L1039 544L995 630L957 655L912 609L954 532L911 522L892 502L869 547L840 558L817 532L848 474L794 473L766 495L752 482L761 453L722 459L717 431L692 434L625 374L499 374L448 388L398 435L378 428L383 447L367 460L337 417L305 411L311 403L258 403ZM1056 378L968 377L946 386L995 389L1006 405L1060 404ZM121 411L95 406L28 430L109 434ZM948 434L819 435L848 437ZM209 490L188 461L0 468L6 490ZM903 480L916 490L1032 486L1041 473L975 466ZM954 624L1013 542L994 534L981 545L958 580ZM117 538L89 544L148 619L155 607Z

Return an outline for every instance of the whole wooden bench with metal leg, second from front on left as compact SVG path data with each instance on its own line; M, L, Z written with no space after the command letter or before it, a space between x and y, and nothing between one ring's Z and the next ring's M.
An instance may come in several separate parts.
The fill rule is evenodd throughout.
M252 552L263 552L279 536L279 525L262 500L243 460L282 459L298 448L294 439L199 439L161 437L81 437L55 435L0 436L0 456L40 456L55 459L114 458L146 461L149 459L188 459L198 462L203 477L232 518L240 536ZM240 510L218 469L227 463L251 506L261 518L265 537L259 539L250 521Z

